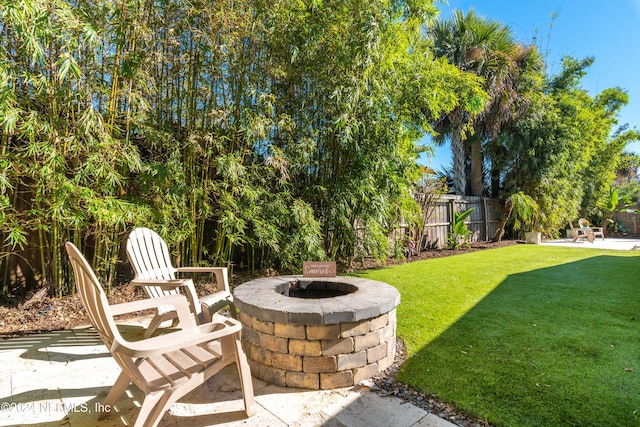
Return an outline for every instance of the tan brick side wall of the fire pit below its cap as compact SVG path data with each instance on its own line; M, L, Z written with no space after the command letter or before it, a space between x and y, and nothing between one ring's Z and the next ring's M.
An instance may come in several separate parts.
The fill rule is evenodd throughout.
M252 374L307 389L349 387L389 367L395 356L396 310L359 322L295 325L240 313Z

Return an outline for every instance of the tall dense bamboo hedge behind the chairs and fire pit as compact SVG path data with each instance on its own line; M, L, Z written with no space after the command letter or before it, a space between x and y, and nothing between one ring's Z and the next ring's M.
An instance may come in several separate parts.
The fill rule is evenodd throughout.
M416 106L431 2L19 4L0 0L2 212L41 248L40 285L69 289L67 239L111 283L133 225L193 264L389 254L438 86Z

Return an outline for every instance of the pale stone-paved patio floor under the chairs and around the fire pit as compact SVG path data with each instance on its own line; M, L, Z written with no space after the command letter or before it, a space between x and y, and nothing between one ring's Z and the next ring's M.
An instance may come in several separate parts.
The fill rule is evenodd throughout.
M123 334L140 334L128 322ZM119 368L93 329L78 328L0 342L0 426L133 425L142 394L130 386L116 413L97 412ZM161 426L452 427L399 398L367 387L287 389L254 379L258 413L247 418L235 365L174 404Z

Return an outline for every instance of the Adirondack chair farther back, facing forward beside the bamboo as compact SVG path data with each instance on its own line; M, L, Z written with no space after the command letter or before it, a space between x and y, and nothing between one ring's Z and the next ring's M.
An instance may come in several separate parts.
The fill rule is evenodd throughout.
M127 257L135 272L131 281L143 286L151 298L180 293L182 289L189 299L192 313L198 323L206 323L216 311L229 306L231 317L236 317L233 296L229 289L229 277L226 267L178 267L171 263L169 249L165 241L153 230L136 228L127 239ZM213 273L218 291L198 299L191 279L177 279L179 273ZM151 336L160 324L171 320L175 326L176 312L171 307L161 306L151 320L145 337Z

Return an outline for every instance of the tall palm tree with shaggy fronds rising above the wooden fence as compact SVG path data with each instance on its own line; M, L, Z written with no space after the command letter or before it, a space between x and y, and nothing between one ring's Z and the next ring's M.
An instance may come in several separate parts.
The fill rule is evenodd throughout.
M502 125L526 109L526 97L520 92L522 87L527 87L522 84L522 76L542 69L542 61L535 47L516 43L508 26L478 16L473 9L466 15L455 10L452 19L436 21L429 34L435 55L447 58L461 71L482 77L489 94L489 102L481 114L465 115L458 108L449 113L446 120L436 123L436 130L451 139L454 181L459 194L465 194L466 189L465 126L472 130L472 136L466 139L471 148L470 193L480 196L482 143L496 139Z

